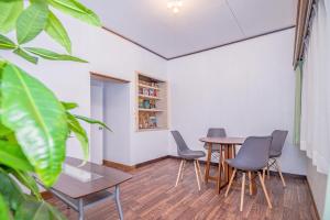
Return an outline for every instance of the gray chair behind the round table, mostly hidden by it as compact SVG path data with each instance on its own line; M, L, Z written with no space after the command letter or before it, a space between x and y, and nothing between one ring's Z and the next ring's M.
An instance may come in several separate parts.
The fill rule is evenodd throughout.
M223 128L210 128L207 133L207 138L226 138L226 130ZM204 144L205 150L208 150L208 144ZM224 173L224 152L220 153L220 144L212 144L211 156L213 158L219 160L221 156L221 164L222 170Z

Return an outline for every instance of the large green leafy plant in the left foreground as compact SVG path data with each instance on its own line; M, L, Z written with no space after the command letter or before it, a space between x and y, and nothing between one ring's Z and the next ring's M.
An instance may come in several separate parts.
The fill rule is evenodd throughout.
M0 0L0 50L12 51L33 64L38 58L85 62L70 55L70 38L53 9L100 25L99 18L77 0ZM16 41L8 36L9 32L15 32ZM63 46L67 54L24 46L42 32ZM80 121L106 125L70 113L75 108L76 103L58 100L43 82L0 54L1 220L64 219L43 200L32 174L46 187L56 183L70 134L79 140L87 158L88 138ZM24 194L18 182L31 194Z

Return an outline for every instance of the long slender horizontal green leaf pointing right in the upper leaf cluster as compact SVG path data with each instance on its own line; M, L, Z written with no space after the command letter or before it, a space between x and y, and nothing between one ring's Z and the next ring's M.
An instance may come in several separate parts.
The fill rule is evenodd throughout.
M66 55L66 54L57 54L55 52L51 52L45 48L37 48L37 47L24 47L28 52L35 54L42 58L51 59L51 61L72 61L72 62L80 62L80 63L87 63L84 59Z

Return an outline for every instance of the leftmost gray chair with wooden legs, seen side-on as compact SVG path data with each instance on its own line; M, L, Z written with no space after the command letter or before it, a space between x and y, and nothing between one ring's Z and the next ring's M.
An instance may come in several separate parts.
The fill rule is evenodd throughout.
M200 157L205 157L206 154L202 151L193 151L190 150L185 140L183 139L182 134L178 131L170 131L176 145L177 145L177 154L178 156L182 158L182 163L179 166L179 170L177 173L177 178L176 178L176 183L175 183L175 187L177 186L179 179L183 179L184 177L184 168L185 168L185 164L187 161L194 161L194 166L195 166L195 173L196 173L196 178L197 178L197 185L198 185L198 189L200 190L200 183L199 183L199 178L201 178L201 172L200 172L200 165L198 162L198 158Z

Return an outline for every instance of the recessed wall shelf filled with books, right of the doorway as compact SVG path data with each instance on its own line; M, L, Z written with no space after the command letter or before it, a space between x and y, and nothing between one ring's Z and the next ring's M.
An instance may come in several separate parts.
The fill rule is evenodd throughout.
M136 72L136 131L167 129L167 82Z

